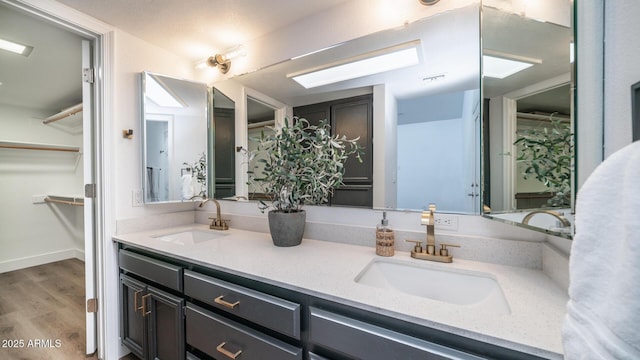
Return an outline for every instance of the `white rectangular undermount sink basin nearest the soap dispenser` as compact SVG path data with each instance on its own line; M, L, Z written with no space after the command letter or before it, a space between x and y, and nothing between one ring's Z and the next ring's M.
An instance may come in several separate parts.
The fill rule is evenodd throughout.
M488 273L376 259L354 281L496 314L511 313L500 284Z

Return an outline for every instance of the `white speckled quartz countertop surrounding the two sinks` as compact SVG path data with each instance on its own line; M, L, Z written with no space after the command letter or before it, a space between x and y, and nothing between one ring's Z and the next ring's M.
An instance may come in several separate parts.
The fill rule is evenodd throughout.
M230 229L229 235L181 245L157 235L189 229L188 225L117 235L114 240L198 265L260 280L291 290L372 310L431 328L455 333L545 358L562 358L561 327L568 301L566 291L542 271L456 259L442 264L416 260L396 251L392 258L375 255L375 248L304 239L295 247L276 247L269 234ZM372 235L374 236L374 235ZM373 241L372 241L373 242ZM374 260L389 259L433 268L492 274L509 304L510 314L481 311L356 283L354 279ZM429 286L416 280L416 286Z

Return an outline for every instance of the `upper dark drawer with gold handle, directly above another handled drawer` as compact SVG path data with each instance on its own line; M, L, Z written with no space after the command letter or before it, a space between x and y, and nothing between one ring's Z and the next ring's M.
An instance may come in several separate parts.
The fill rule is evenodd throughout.
M299 304L190 270L184 272L184 293L230 314L300 339Z

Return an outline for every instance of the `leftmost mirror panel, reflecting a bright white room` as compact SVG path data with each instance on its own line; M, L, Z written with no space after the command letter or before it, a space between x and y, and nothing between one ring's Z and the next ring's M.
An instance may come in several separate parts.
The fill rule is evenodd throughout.
M207 86L143 72L143 191L146 204L207 195Z

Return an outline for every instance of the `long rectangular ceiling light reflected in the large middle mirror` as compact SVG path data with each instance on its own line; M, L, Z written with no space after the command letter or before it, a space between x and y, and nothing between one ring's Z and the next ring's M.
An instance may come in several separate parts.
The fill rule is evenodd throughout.
M305 88L310 89L344 80L396 70L416 65L420 62L418 45L420 45L420 41L415 40L334 62L322 67L288 74L287 77L293 79Z

